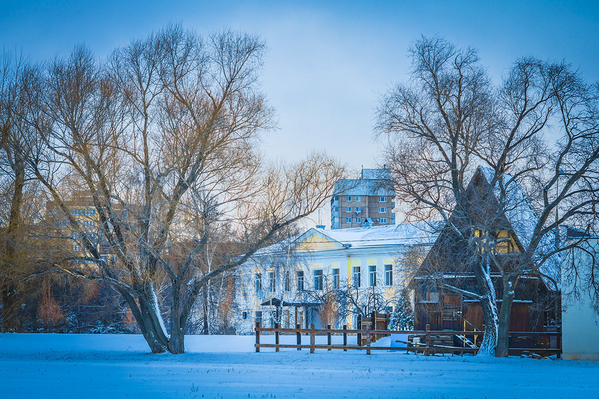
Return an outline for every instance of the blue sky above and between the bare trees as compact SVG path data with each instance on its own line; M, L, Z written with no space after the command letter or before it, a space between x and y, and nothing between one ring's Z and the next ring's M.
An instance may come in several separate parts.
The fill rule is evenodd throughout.
M101 56L168 22L208 33L229 26L270 48L264 91L279 130L264 139L273 159L325 149L359 169L374 166L373 112L380 93L404 80L406 49L440 33L479 48L499 81L519 56L566 59L599 80L598 1L232 2L0 0L0 44L34 60L86 42Z

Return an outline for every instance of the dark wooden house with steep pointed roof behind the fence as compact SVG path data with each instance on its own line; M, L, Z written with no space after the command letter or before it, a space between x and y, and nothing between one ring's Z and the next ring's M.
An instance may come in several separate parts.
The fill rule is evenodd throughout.
M510 182L501 195L497 187L490 189L491 179L491 169L477 168L467 187L468 209L462 213L468 219L452 216L450 221L465 237L491 237L497 243L492 249L495 258L509 270L527 248L537 216L518 182ZM510 206L506 206L506 199ZM555 241L546 237L543 245L555 245ZM483 330L480 302L447 288L451 285L477 292L469 266L477 257L473 248L467 240L459 239L449 224L441 229L410 283L415 290L415 330L425 330L427 325L430 330ZM496 267L491 269L491 277L500 309L503 287ZM547 325L558 323L559 289L557 256L543 263L539 275L522 276L515 290L510 331L544 331Z

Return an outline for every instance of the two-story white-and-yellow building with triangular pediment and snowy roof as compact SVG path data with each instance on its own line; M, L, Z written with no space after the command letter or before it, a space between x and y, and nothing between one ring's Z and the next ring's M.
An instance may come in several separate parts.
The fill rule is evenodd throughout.
M241 268L238 333L310 323L354 326L359 314L391 310L406 287L403 264L434 242L427 224L310 229L263 249Z

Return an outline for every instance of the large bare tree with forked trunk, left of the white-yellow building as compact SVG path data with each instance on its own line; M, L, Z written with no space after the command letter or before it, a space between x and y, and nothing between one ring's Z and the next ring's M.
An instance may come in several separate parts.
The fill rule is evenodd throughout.
M37 93L32 123L45 147L31 167L97 265L68 271L113 284L152 352L183 353L205 285L285 236L343 174L323 154L292 165L261 159L261 132L274 126L259 92L264 50L257 36L172 25L106 63L85 47L57 57ZM89 196L95 231L72 215L65 182Z

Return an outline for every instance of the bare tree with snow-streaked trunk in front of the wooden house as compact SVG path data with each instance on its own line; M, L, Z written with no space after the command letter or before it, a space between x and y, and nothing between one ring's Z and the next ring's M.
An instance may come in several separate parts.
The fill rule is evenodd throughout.
M412 83L391 90L378 110L377 132L391 138L385 163L394 173L395 190L411 205L409 217L443 220L442 233L453 234L455 248L467 251L462 265L474 272L477 292L444 286L481 301L485 337L479 353L507 356L519 279L547 277L543 270L559 267L549 265L564 250L549 239L559 224L576 219L588 230L594 223L596 91L569 65L533 58L518 60L495 88L475 50L438 37L416 41L410 53ZM552 151L546 141L556 131L563 137ZM465 182L480 163L491 170L487 192L473 196ZM523 187L540 192L531 197ZM497 202L481 207L481 200L491 197ZM530 203L531 198L539 201ZM495 234L506 213L531 205L536 211L518 221L525 232L518 257L498 260L497 248L511 240ZM498 270L503 285L501 312L492 270Z

